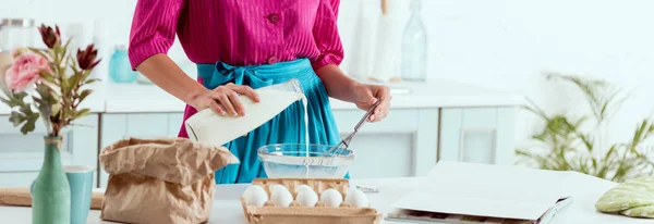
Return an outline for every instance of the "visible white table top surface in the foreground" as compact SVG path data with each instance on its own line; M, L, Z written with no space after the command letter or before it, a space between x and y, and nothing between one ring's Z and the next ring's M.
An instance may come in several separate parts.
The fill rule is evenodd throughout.
M391 210L390 203L400 199L414 189L421 177L405 178L380 178L380 179L353 179L351 185L378 187L379 192L368 194L372 206L379 212L386 213ZM595 211L594 204L606 190L616 186L615 183L597 179L591 176L579 175L567 183L574 198L573 202L564 208L553 219L552 224L652 224L653 220L631 219L620 215L604 214ZM209 224L245 224L243 209L239 197L247 185L220 185L216 189L214 210ZM23 224L31 223L31 209L20 207L0 206L0 217L2 223ZM100 211L92 210L87 223L112 223L99 219ZM383 221L384 224L400 224L399 222Z

